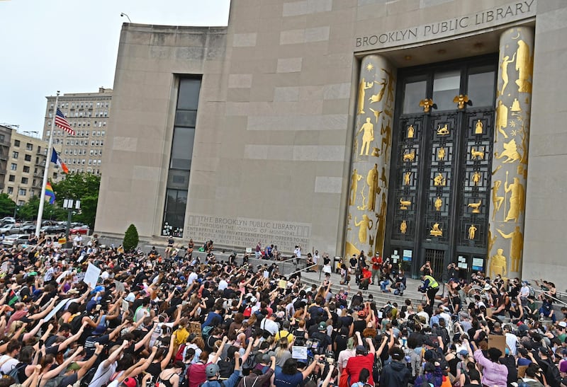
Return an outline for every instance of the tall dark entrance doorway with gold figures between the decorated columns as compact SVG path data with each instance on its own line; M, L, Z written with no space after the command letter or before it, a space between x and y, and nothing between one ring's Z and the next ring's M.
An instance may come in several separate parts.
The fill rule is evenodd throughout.
M483 57L398 74L384 250L413 277L433 251L438 280L449 262L470 274L459 255L486 255L496 64Z

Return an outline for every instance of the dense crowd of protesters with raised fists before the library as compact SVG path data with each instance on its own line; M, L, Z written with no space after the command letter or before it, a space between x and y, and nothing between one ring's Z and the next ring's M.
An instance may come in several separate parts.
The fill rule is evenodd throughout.
M201 258L192 240L163 255L96 238L71 250L38 242L0 251L0 387L567 385L567 311L554 312L554 284L534 294L520 279L477 273L439 294L427 262L424 301L400 296L404 280L378 304L348 284L352 275L386 291L384 277L404 278L378 257L339 265L346 289L334 293L328 268L305 287L277 262L221 260L212 241ZM308 270L330 267L325 253L308 258ZM101 270L92 287L89 264ZM500 335L505 348L491 346Z

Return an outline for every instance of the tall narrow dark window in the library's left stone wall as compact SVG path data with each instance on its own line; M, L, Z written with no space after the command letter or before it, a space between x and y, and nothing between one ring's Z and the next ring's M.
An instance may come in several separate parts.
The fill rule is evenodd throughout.
M179 79L162 235L183 236L201 79Z

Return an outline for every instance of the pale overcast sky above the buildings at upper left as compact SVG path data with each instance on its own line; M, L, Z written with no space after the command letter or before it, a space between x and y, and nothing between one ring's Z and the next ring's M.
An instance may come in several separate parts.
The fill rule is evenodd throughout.
M120 13L132 23L218 26L228 24L229 6L230 0L0 0L0 124L40 137L45 96L112 88L120 28L128 22Z

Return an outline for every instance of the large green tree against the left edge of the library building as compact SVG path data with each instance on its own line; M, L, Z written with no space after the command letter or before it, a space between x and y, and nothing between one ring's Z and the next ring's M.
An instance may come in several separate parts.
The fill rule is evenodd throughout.
M92 173L69 173L59 183L52 183L55 202L62 207L64 199L80 200L81 211L73 219L94 228L96 204L99 202L101 177ZM45 212L44 212L45 213Z

